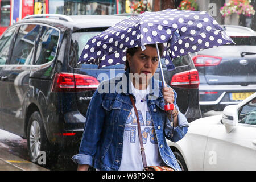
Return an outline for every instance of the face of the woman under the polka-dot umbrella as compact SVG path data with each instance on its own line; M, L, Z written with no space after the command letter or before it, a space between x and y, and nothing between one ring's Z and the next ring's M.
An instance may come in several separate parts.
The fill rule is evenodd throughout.
M147 80L154 75L156 68L158 68L158 53L156 48L151 46L146 46L144 51L138 48L133 56L127 54L127 60L130 65L130 73L146 76Z

